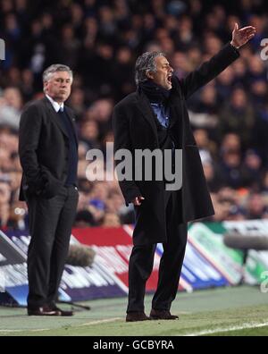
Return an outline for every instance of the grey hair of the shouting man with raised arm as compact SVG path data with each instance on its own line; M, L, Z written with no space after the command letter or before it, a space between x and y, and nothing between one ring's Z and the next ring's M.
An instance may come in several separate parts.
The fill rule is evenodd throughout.
M146 52L138 56L135 64L135 82L138 85L140 82L148 80L147 72L156 72L155 58L157 56L165 56L163 52Z

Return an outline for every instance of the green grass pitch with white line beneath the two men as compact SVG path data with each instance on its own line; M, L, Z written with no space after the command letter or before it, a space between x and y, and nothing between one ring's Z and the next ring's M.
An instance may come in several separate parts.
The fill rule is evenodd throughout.
M147 313L151 299L146 298ZM126 323L126 298L85 304L91 310L72 317L26 316L25 308L1 307L0 336L268 335L268 293L259 287L180 292L172 304L179 321Z

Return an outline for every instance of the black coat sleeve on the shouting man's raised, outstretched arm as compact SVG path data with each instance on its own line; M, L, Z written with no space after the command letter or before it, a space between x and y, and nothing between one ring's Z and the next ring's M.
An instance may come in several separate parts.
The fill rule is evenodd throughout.
M239 57L239 51L230 43L223 46L219 53L209 61L203 63L197 70L190 72L188 76L180 80L180 88L183 96L187 99L197 89L200 89L210 80L213 80L219 73L223 72Z

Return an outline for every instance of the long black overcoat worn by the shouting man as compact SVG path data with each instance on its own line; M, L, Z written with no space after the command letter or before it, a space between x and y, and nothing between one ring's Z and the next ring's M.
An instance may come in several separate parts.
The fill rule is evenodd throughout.
M203 63L183 80L172 78L170 97L171 130L182 149L182 188L177 192L180 208L178 223L214 215L214 207L207 190L205 175L188 119L186 100L197 89L213 80L239 52L230 44ZM130 94L113 109L114 150L129 149L134 157L135 149L159 148L155 118L147 97L140 91ZM116 162L118 164L118 162ZM133 163L133 166L135 162ZM136 244L163 242L166 240L163 209L163 181L120 181L126 204L143 196L142 205L133 234ZM135 243L134 243L135 244Z

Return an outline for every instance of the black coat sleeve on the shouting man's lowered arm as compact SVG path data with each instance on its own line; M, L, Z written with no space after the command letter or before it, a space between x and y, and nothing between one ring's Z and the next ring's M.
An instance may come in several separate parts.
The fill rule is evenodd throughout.
M115 106L113 109L113 135L114 154L120 149L127 149L132 152L129 122L126 114L123 114L118 106ZM120 161L115 160L116 166L119 163ZM134 198L142 195L133 179L131 181L119 181L119 185L122 195L125 198L126 206L128 206Z

